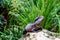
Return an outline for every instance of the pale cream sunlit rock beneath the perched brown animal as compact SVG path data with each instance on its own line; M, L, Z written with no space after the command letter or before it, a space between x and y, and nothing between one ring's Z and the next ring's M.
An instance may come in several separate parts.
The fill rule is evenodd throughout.
M60 40L58 37L55 37L54 34L54 32L43 29L42 31L27 33L27 35L23 36L19 40Z

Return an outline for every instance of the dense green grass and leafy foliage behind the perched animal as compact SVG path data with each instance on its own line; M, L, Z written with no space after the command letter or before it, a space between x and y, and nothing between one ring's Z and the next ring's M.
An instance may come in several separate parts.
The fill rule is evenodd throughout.
M34 22L38 16L44 16L42 27L60 32L60 0L0 0L0 14L5 15L7 25L2 25L0 17L0 40L18 40L25 26ZM57 14L58 12L58 14Z

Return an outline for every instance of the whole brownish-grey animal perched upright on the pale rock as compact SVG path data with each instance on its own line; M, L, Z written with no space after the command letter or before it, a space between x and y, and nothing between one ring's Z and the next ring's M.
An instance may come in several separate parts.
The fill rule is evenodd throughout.
M36 18L33 23L29 23L25 27L23 34L26 34L27 32L38 31L41 28L41 24L42 24L43 19L44 19L44 17L40 16L40 17Z

